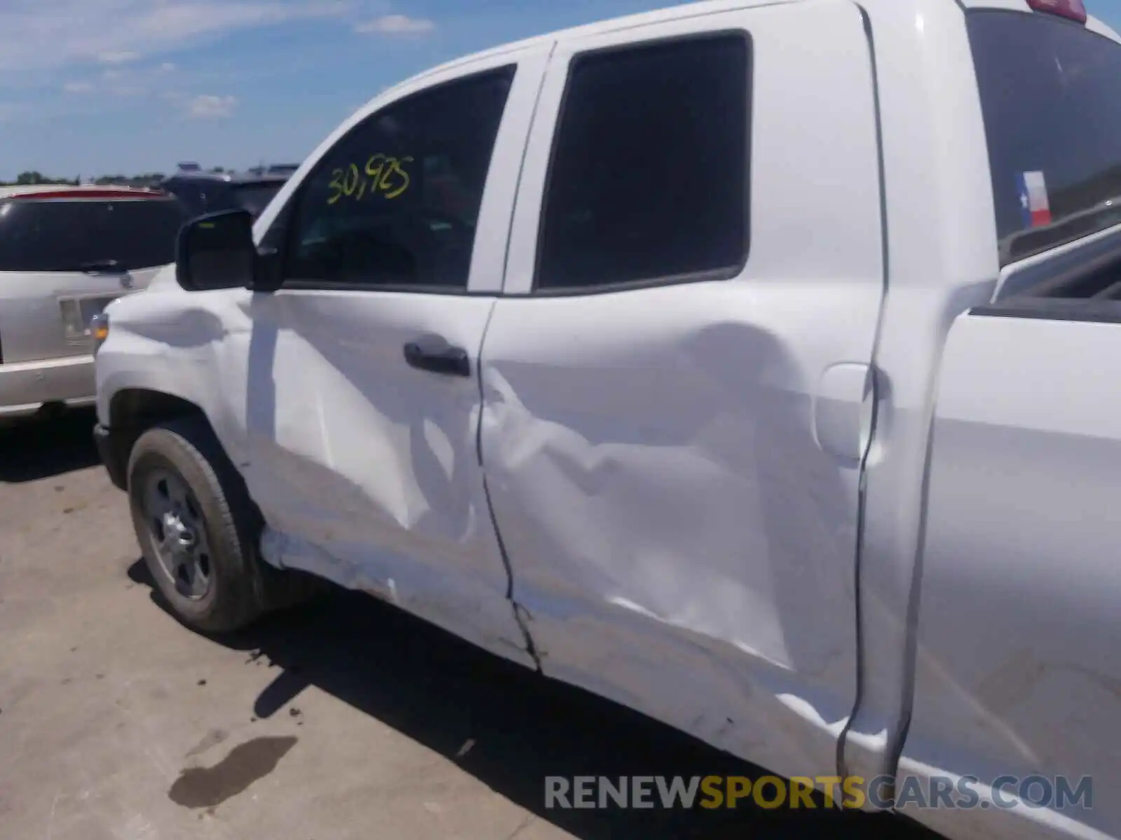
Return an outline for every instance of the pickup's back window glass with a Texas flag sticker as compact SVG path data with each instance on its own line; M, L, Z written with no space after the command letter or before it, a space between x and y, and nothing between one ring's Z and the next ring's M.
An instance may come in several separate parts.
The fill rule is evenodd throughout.
M1121 45L1053 15L967 25L1001 265L1121 223Z

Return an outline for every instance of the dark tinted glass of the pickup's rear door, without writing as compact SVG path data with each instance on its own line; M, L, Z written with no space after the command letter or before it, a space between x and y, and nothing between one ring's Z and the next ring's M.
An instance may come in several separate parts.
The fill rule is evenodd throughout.
M742 265L748 74L742 34L576 59L545 199L538 289Z

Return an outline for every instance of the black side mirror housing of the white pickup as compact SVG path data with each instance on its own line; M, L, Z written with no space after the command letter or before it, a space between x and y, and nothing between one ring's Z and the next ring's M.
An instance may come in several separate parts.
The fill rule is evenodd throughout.
M187 291L254 288L257 246L248 211L207 213L179 230L175 279Z

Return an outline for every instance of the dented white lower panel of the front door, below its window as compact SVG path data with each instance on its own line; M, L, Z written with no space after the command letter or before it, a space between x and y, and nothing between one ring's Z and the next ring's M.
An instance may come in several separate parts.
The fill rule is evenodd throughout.
M279 302L279 301L278 301ZM439 332L476 355L492 301L302 295L278 330L269 561L359 589L534 666L507 598L476 455L478 385L400 358ZM395 310L400 314L395 317ZM433 321L441 321L435 324ZM351 337L380 324L365 352ZM268 491L266 491L266 495ZM262 506L263 507L263 506Z

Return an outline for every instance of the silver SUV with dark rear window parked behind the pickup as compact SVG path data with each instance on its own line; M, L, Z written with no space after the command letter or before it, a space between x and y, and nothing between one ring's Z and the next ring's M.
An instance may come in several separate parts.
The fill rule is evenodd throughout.
M91 319L175 261L185 220L158 190L0 187L0 423L93 402Z

